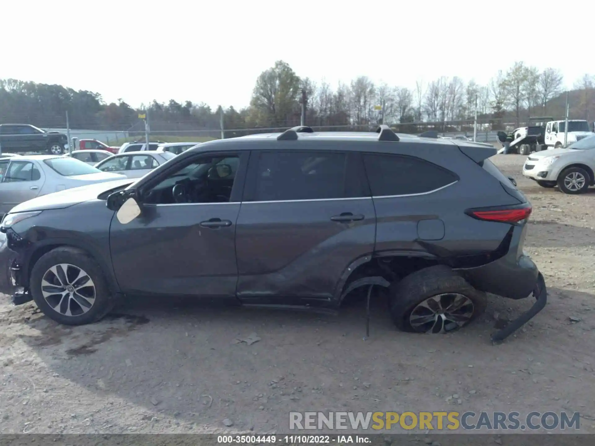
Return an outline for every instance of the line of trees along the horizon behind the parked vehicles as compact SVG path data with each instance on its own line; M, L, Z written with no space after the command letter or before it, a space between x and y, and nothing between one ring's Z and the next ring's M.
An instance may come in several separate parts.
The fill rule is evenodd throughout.
M306 124L320 127L469 121L475 111L495 130L502 123L519 124L531 116L565 115L563 76L556 68L543 71L516 62L498 71L486 85L460 77L419 80L414 88L374 83L360 76L336 87L300 77L284 61L256 79L250 105L223 110L224 128L290 127L300 123L302 92L306 95ZM585 74L569 93L571 118L595 120L595 76ZM139 112L148 109L151 130L190 131L220 127L221 111L189 100L154 100L133 107L123 99L105 103L101 94L61 85L14 79L0 80L0 123L29 123L71 128L140 131Z

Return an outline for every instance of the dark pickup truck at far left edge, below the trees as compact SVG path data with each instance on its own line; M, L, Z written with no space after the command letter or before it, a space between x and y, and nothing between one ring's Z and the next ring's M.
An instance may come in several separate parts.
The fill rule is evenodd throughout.
M30 124L0 124L2 152L45 152L62 155L68 138L58 131L43 131Z

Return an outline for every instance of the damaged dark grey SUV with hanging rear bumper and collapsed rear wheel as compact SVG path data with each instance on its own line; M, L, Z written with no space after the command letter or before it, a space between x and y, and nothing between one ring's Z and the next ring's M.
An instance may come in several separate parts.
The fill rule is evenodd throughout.
M486 293L546 288L523 250L531 205L488 158L496 149L399 134L281 134L217 140L132 183L49 194L0 227L0 291L68 325L126 296L339 307L383 289L396 326L443 333ZM362 288L364 287L364 288Z

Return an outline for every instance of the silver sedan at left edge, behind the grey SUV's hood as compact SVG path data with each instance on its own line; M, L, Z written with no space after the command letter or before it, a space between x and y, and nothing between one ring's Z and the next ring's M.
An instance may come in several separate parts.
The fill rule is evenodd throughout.
M0 215L45 194L124 178L124 175L108 174L60 155L0 159Z

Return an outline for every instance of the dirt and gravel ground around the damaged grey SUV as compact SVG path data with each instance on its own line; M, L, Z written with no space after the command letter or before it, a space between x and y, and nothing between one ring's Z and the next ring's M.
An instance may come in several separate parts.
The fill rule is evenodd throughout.
M67 328L2 296L0 432L279 432L291 410L569 410L595 432L595 190L542 189L524 158L494 162L533 203L526 249L549 303L504 344L491 346L494 326L532 299L490 299L444 336L396 331L375 301L365 340L359 303L332 316L134 302Z

